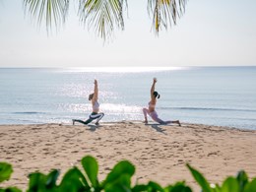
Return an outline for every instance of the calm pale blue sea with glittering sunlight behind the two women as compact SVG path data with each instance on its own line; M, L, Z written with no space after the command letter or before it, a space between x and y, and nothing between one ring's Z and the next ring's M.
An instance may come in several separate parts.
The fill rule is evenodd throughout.
M97 70L0 68L0 124L87 119L95 79L102 121L143 120L157 77L163 120L256 129L256 67Z

